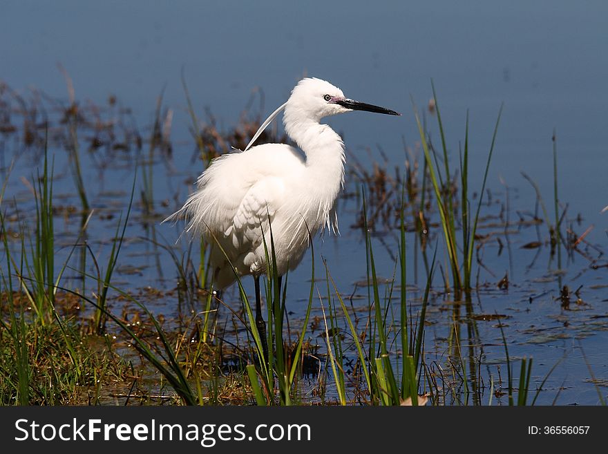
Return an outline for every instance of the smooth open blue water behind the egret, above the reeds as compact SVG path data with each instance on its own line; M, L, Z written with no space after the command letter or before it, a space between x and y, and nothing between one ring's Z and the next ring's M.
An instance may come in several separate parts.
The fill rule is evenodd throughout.
M263 89L270 111L314 75L402 111L399 123L331 121L354 145L399 149L401 134L416 137L410 95L424 106L433 77L454 148L468 108L484 151L505 103L493 180L500 173L518 183L520 169L544 180L555 128L568 163L564 191L588 199L608 192L599 178L608 169L607 13L602 1L3 1L0 78L65 95L61 64L77 96L102 102L113 93L145 119L165 85L165 100L184 115L184 68L194 104L231 123L253 88ZM598 199L595 211L605 206Z

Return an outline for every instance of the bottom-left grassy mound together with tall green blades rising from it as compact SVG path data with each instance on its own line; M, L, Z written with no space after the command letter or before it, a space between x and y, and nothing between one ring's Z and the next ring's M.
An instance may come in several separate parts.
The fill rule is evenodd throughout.
M111 346L103 351L93 348L82 325L55 310L65 302L66 294L57 289L66 264L56 275L52 180L45 156L35 191L37 243L26 247L23 231L17 255L8 245L0 203L6 261L6 267L0 267L0 402L4 405L97 403L102 384L130 373Z

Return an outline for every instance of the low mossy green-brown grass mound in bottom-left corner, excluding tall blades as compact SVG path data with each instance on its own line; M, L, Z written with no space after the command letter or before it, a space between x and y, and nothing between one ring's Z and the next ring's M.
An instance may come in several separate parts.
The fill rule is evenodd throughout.
M104 386L133 377L128 361L95 347L74 321L41 325L18 311L0 321L2 405L98 404Z

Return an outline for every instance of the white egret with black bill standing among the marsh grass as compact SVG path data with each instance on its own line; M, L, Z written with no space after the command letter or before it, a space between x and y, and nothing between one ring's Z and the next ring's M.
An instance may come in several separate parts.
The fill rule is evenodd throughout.
M251 147L283 110L285 132L299 149L287 144ZM270 225L276 268L283 276L301 262L309 246L309 232L314 236L324 227L338 231L335 204L344 181L344 143L330 126L319 122L328 115L350 111L401 115L350 100L324 80L302 79L245 150L213 160L182 209L167 218L184 216L187 231L202 235L211 245L219 243L221 249L212 246L210 257L216 289L233 283L237 274L254 276L256 325L266 356L259 281L268 266L263 235L269 248Z

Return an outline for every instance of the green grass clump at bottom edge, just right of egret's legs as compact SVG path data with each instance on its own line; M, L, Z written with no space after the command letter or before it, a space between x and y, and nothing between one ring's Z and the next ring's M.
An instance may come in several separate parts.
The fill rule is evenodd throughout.
M363 196L363 213L365 209L365 197ZM403 215L402 215L403 216ZM365 219L364 219L365 221ZM374 261L374 251L372 247L370 232L365 224L365 243L366 255L368 261L368 326L364 332L359 332L356 321L353 322L352 315L346 307L343 298L338 291L329 271L327 271L327 279L332 282L334 296L339 302L348 330L354 343L356 350L357 361L361 370L359 381L363 381L359 388L359 399L363 398L372 405L401 405L403 402L411 402L412 405L418 404L419 390L421 383L424 383L424 368L421 364L424 362L424 321L426 316L426 305L428 304L428 295L430 284L433 280L433 265L428 276L426 292L422 302L421 311L417 320L417 326L408 324L408 300L406 297L406 244L405 244L405 225L403 218L401 220L400 239L399 239L399 283L401 287L401 297L399 299L399 318L397 321L389 319L388 316L393 314L391 295L395 286L395 279L388 283L386 288L386 297L381 299L380 284L376 274L376 265ZM328 284L329 286L329 284ZM330 323L332 331L335 332L336 325L336 309L332 303L332 296L328 288L328 309L330 314ZM334 352L329 341L329 330L326 323L326 338L327 348L330 354L330 364L334 371L334 380L336 388L339 390L339 398L341 404L347 404L349 399L346 397L345 386L345 357L346 353L342 346L339 337L333 336ZM394 341L391 339L397 338L401 347L401 363L395 352L392 351ZM367 339L367 348L362 339ZM399 345L399 344L398 344ZM401 370L401 379L399 380L398 371ZM349 377L351 381L357 382L354 377ZM362 389L361 389L362 388Z

